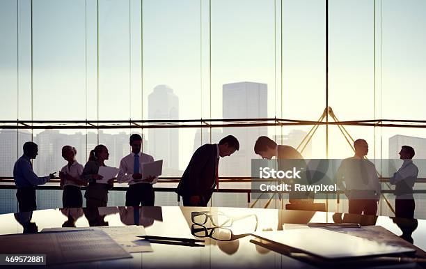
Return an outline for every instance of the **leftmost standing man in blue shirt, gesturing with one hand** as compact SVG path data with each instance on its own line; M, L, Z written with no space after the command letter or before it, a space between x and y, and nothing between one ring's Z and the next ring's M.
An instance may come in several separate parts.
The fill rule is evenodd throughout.
M33 171L31 159L36 159L38 146L31 141L24 144L24 155L19 157L13 167L13 178L17 186L16 198L19 212L37 210L36 187L43 185L55 177L55 173L49 176L38 177Z

